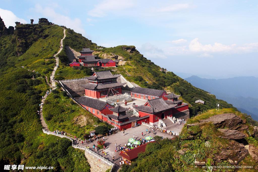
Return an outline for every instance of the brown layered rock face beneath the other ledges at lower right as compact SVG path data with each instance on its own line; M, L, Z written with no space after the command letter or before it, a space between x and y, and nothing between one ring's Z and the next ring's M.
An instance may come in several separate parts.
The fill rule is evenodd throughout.
M231 165L234 165L243 160L247 153L248 150L245 149L244 144L238 143L234 140L230 140L230 143L227 147L221 148L218 153L214 154L214 160L216 162L226 160Z

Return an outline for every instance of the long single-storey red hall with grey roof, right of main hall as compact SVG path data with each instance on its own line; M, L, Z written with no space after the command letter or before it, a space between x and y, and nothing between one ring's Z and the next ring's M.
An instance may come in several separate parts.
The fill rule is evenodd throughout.
M158 89L151 89L151 88L142 88L142 87L135 87L131 91L131 96L138 98L138 99L157 99L159 97L163 97L164 100L167 100L167 95L165 90L158 90Z

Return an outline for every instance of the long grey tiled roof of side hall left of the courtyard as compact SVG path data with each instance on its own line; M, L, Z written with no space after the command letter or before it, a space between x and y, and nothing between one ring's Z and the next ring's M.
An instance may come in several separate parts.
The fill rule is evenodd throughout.
M79 104L82 104L82 105L85 105L87 107L90 107L90 108L93 108L93 109L97 109L97 110L102 110L102 109L104 109L106 107L106 105L109 105L107 102L102 102L100 100L91 99L91 98L85 97L85 96L76 97L74 99ZM109 105L109 106L111 106L111 105Z

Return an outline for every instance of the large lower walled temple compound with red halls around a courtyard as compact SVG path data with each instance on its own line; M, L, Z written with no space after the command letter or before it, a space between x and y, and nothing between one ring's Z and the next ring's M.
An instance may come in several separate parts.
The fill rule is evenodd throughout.
M141 124L163 124L169 128L175 124L172 118L189 119L188 103L179 100L180 95L167 94L165 90L129 88L125 85L130 82L121 77L110 71L98 71L90 77L70 81L71 84L62 81L61 85L82 107L120 130Z

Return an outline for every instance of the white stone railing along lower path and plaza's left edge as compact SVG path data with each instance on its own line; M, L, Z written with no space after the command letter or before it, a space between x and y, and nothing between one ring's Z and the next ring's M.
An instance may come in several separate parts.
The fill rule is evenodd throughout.
M115 128L118 128L118 127L115 127ZM68 136L61 135L61 134L56 134L56 133L53 133L53 132L50 132L50 131L46 131L46 130L44 130L44 129L42 129L42 131L43 131L43 133L46 133L46 134L51 134L51 135L55 135L55 136L58 136L58 137L65 137L65 138L68 138L69 140L71 140L71 141L73 142L73 139L70 138L70 137L68 137ZM114 170L114 168L115 168L115 163L113 163L113 162L111 162L110 160L108 160L108 159L102 157L102 156L99 155L98 153L96 153L96 152L94 152L94 151L92 151L92 150L86 148L86 146L83 147L83 146L78 146L78 145L72 144L72 147L73 147L73 148L77 148L77 149L82 149L82 150L84 150L85 152L87 152L87 153L89 153L89 154L93 154L93 156L95 156L95 157L97 157L97 158L100 158L100 160L101 160L102 162L106 163L107 165L111 165L111 170L110 170L110 172L111 172L112 170Z

